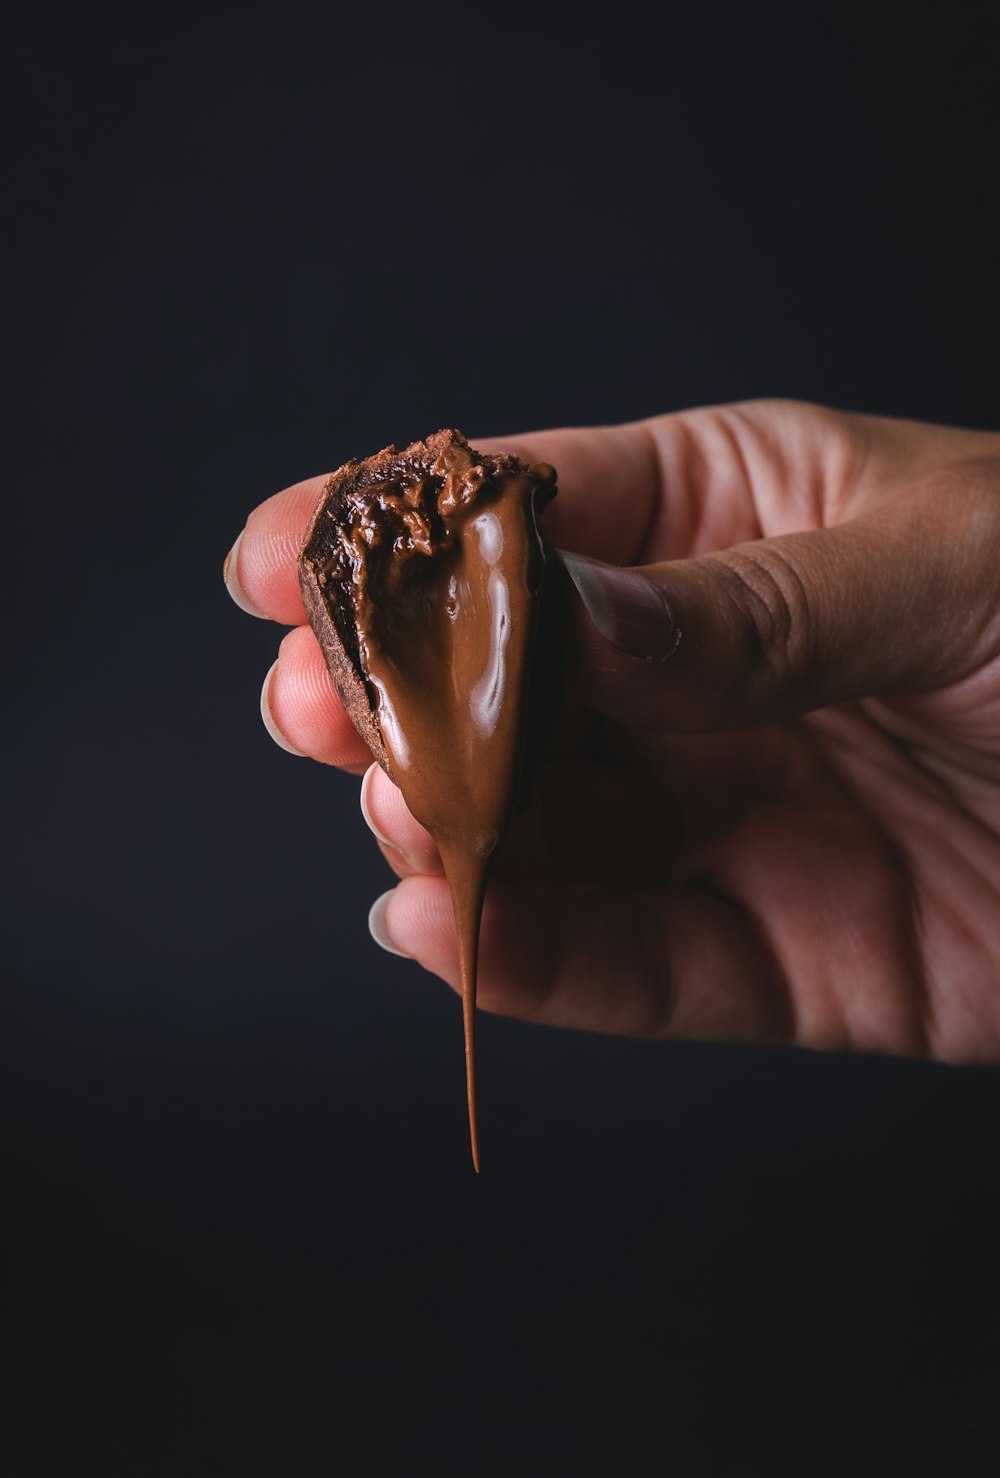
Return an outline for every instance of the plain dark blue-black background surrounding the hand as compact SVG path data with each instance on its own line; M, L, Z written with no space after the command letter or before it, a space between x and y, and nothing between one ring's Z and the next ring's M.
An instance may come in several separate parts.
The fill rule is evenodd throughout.
M997 1072L483 1018L477 1179L456 1002L220 582L439 426L996 427L988 10L7 34L7 1472L997 1471Z

